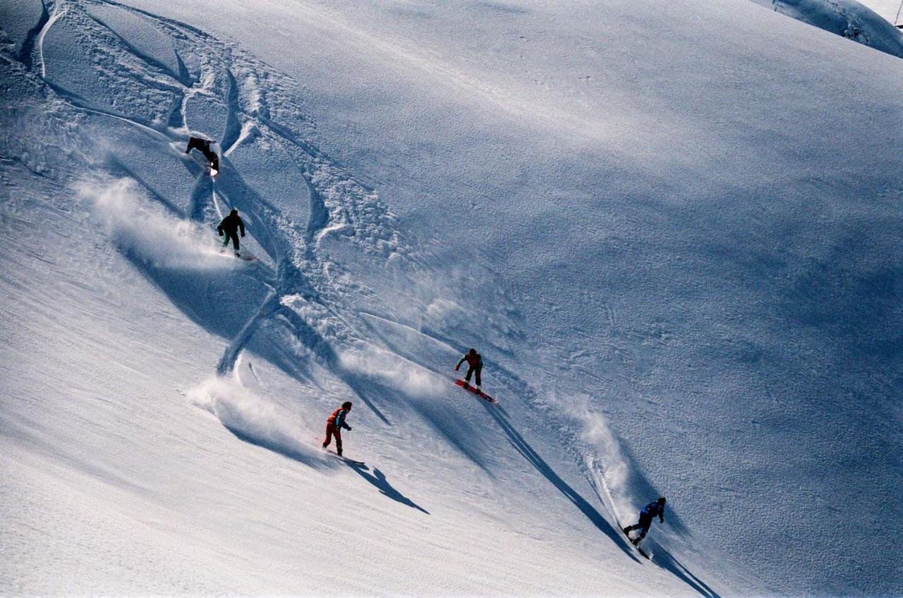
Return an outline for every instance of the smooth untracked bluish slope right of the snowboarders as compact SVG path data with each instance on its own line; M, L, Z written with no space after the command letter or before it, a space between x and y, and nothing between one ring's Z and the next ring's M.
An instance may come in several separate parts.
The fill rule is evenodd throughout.
M484 14L476 24L479 12L461 15L453 7L405 12L358 5L350 14L339 5L298 6L303 9L283 15L283 29L257 44L258 51L303 76L317 98L310 102L313 119L330 153L369 173L413 224L429 220L452 255L478 245L497 265L493 280L517 280L510 294L537 338L527 343L530 359L536 347L564 345L546 351L555 373L544 387L560 389L565 401L598 388L592 394L604 395L607 409L623 405L612 425L642 453L646 470L673 475L672 488L692 484L688 493L706 505L696 511L694 528L724 543L738 534L748 538L749 559L769 561L772 571L787 566L787 558L799 559L794 571L802 573L791 583L803 575L821 584L815 579L842 572L856 584L856 564L870 556L852 556L848 546L830 558L766 547L809 537L823 525L818 536L828 546L839 546L838 536L860 537L861 513L886 504L898 480L892 460L871 471L865 465L872 455L888 454L896 424L881 428L877 443L863 442L860 406L846 398L874 397L876 412L886 413L887 397L895 395L885 351L863 348L873 355L863 367L852 354L860 352L860 338L893 344L892 327L884 326L896 317L896 294L882 294L880 285L873 291L865 281L881 279L881 265L893 262L898 247L890 240L896 225L889 224L899 216L891 191L898 187L897 61L750 5L707 5L702 12L678 3L643 18L635 5L605 5L597 14L584 10L580 23L567 7L531 5L519 14ZM275 19L266 16L268 5L260 10L261 22ZM220 19L223 11L203 17L210 28L230 33ZM738 22L748 26L738 29ZM248 43L258 39L244 28L231 34ZM358 50L365 45L371 51L363 59ZM353 59L337 60L346 46ZM410 55L429 57L430 68L421 66L423 58L405 60ZM378 93L372 72L380 73ZM503 90L517 84L517 94L490 96L485 85L471 91L461 77L442 83L461 72L497 85L500 79ZM537 117L517 120L504 102L488 101L512 95L541 106ZM555 111L544 111L553 105ZM644 118L618 118L625 110ZM603 124L618 122L610 142L596 135L600 149L588 149L587 135L568 126L586 112ZM467 118L455 126L461 114ZM883 207L873 208L875 202ZM861 220L876 209L874 218ZM442 210L438 222L434 210ZM642 226L650 217L656 220ZM873 231L864 239L877 245L870 248L867 240L849 261L834 261L832 246L849 247L861 231ZM526 266L533 268L528 278ZM572 292L573 280L604 286ZM715 280L721 282L706 296ZM817 318L806 321L809 313ZM843 330L832 325L851 313L860 320ZM410 318L418 321L416 314ZM498 335L492 338L498 342ZM573 384L576 391L561 390L580 376L576 368L608 372L608 379L584 378ZM787 388L794 389L790 397ZM655 401L649 406L658 407L636 408L621 397L638 405L649 397ZM813 422L806 432L796 424L801 419ZM688 430L712 428L723 444L687 442ZM775 471L751 467L771 463L776 444L799 460ZM742 458L732 446L742 447ZM851 449L858 456L848 465ZM689 463L694 475L681 473ZM699 463L712 465L700 471ZM824 491L825 463L832 463L834 479L850 481L842 484L842 499L835 498L837 489ZM723 472L743 470L749 473L736 485L719 481ZM799 472L808 473L801 479ZM847 515L832 510L863 500L861 488L874 481L880 487L865 499L870 506ZM740 485L759 492L757 499L731 491L727 500L724 491L711 491ZM776 496L784 497L779 509ZM743 516L755 510L752 519L775 521L776 510L796 512L800 503L823 500L832 508L788 516L786 531L749 528ZM786 575L775 578L787 582Z

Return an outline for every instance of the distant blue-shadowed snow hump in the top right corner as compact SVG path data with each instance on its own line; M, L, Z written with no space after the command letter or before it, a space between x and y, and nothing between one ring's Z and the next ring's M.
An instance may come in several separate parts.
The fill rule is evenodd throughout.
M753 0L780 14L787 14L853 42L903 58L903 33L869 7L855 0Z

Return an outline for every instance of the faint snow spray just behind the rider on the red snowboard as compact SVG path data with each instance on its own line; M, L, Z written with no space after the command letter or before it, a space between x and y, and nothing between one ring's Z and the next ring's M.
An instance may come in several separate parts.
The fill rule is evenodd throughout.
M412 397L437 396L448 388L448 384L430 370L386 350L346 350L340 355L340 361L345 369L399 388Z

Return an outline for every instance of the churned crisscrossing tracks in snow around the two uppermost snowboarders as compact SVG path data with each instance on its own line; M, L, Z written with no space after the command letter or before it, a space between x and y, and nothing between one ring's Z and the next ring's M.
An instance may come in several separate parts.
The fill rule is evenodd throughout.
M188 136L194 133L219 140L222 158L216 181L195 156L182 156L185 168L193 177L185 205L165 190L163 183L152 185L149 180L154 173L141 173L142 164L127 164L122 154L133 153L132 139L108 140L110 145L118 145L104 148L106 152L101 156L89 156L101 163L104 172L137 182L151 200L175 218L202 224L219 220L228 209L236 208L246 220L247 241L253 239L252 248L256 245L268 257L247 265L241 272L242 276L254 280L251 285L258 294L265 289L256 310L246 314L241 325L232 322L225 327L227 330L215 331L231 339L216 365L217 374L228 376L257 332L278 326L350 387L357 386L358 382L352 379L353 372L343 369L331 346L335 341L359 341L348 323L354 314L340 314L340 308L328 299L347 292L345 281L349 277L343 275L339 264L330 260L328 252L321 250L321 241L330 235L341 236L357 251L375 259L404 259L410 250L394 228L394 217L375 193L305 142L302 132L271 117L267 96L286 98L280 90L282 86L296 87L293 81L273 81L271 69L240 49L154 14L114 2L61 1L47 6L51 7L51 13L45 10L42 22L35 28L39 33L33 34L37 42L24 44L25 48L34 46L34 49L26 52L23 64L29 67L33 58L36 59L41 65L41 78L58 98L92 117L114 119L131 127L130 136L149 137L148 143L157 152L163 149L181 153ZM121 23L107 22L114 17L131 23L132 29L169 36L177 68L167 66L147 48L139 51L141 43L128 39L129 29L123 31L116 26ZM66 30L61 31L56 26L58 23L64 23ZM54 42L66 45L67 52L83 54L85 72L103 73L107 79L114 80L91 81L84 79L84 72L79 73L82 77L79 79L69 72L53 70L54 62L45 50L51 32L58 36ZM266 73L265 77L275 85L262 86L258 73ZM107 93L116 94L117 90L118 95L107 96ZM147 106L130 106L127 101L148 96L159 101L149 101ZM280 109L292 118L295 126L308 125L300 107L289 105ZM257 192L253 184L246 182L241 169L230 162L229 157L246 145L252 154L261 154L263 150L253 147L258 142L280 151L286 158L283 171L286 177L293 176L307 193L309 205L300 210L307 215L303 221L288 218ZM248 243L245 245L247 249ZM192 319L199 319L204 306L184 304L185 294L173 295L178 280L183 278L172 282L172 273L140 262L137 259L135 266L144 269L145 275L170 294ZM206 281L206 284L211 283ZM221 293L219 289L217 294ZM204 321L200 323L209 327L209 320L214 317L202 317ZM388 423L366 394L358 392L358 395Z

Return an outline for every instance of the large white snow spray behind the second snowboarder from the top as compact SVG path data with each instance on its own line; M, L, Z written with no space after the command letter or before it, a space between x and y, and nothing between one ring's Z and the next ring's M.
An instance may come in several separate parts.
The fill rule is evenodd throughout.
M91 202L116 247L130 257L155 267L235 267L236 260L219 254L209 230L167 213L133 179L86 177L73 187L80 200Z

